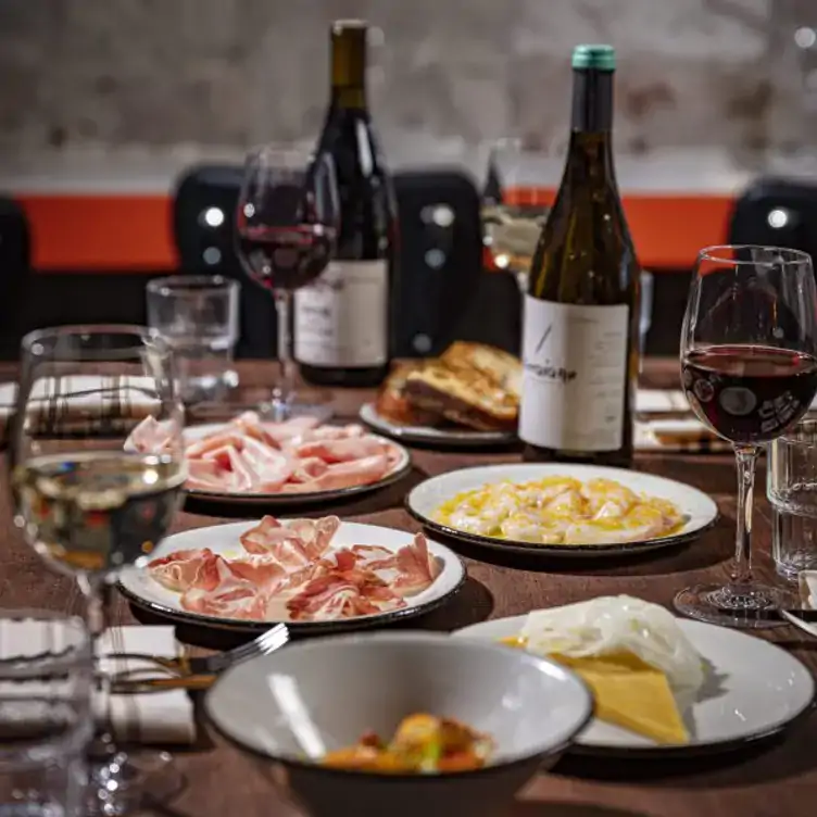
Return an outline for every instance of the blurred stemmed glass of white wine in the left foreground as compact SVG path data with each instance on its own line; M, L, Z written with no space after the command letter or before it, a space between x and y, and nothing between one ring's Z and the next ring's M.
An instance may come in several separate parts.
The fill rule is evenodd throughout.
M15 524L52 567L76 577L92 642L108 628L117 571L165 536L186 477L183 407L167 343L136 326L27 335L11 422ZM91 807L122 814L160 755L128 755L104 729Z

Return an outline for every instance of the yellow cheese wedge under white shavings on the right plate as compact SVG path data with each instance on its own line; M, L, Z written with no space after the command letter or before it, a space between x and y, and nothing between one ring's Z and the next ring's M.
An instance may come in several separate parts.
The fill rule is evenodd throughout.
M525 646L519 637L502 639L508 646ZM573 669L595 696L595 716L651 738L656 743L689 743L689 732L673 690L659 669L629 652L574 657L551 655Z

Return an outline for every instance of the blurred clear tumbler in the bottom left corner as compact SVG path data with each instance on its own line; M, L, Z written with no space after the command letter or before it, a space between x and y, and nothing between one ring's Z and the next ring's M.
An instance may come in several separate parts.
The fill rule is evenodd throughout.
M0 815L85 813L92 687L79 618L0 612Z

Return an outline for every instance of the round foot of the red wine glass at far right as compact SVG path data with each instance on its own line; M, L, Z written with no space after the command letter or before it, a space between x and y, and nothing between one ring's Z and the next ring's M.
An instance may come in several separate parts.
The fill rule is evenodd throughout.
M781 627L774 611L788 606L789 593L768 585L695 585L681 590L675 608L684 616L720 627L766 629Z

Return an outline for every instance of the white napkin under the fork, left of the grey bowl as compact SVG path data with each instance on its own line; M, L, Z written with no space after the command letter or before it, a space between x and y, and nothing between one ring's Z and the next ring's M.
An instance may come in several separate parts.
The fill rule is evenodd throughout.
M100 655L109 656L113 645L128 653L147 653L162 658L178 655L173 627L118 627L117 637L106 632L98 645ZM150 662L103 658L106 670L156 669ZM158 670L161 674L161 670ZM95 701L97 717L104 713L102 695ZM192 743L196 740L193 704L185 690L150 692L143 695L111 695L109 717L114 737L138 739L141 743Z

